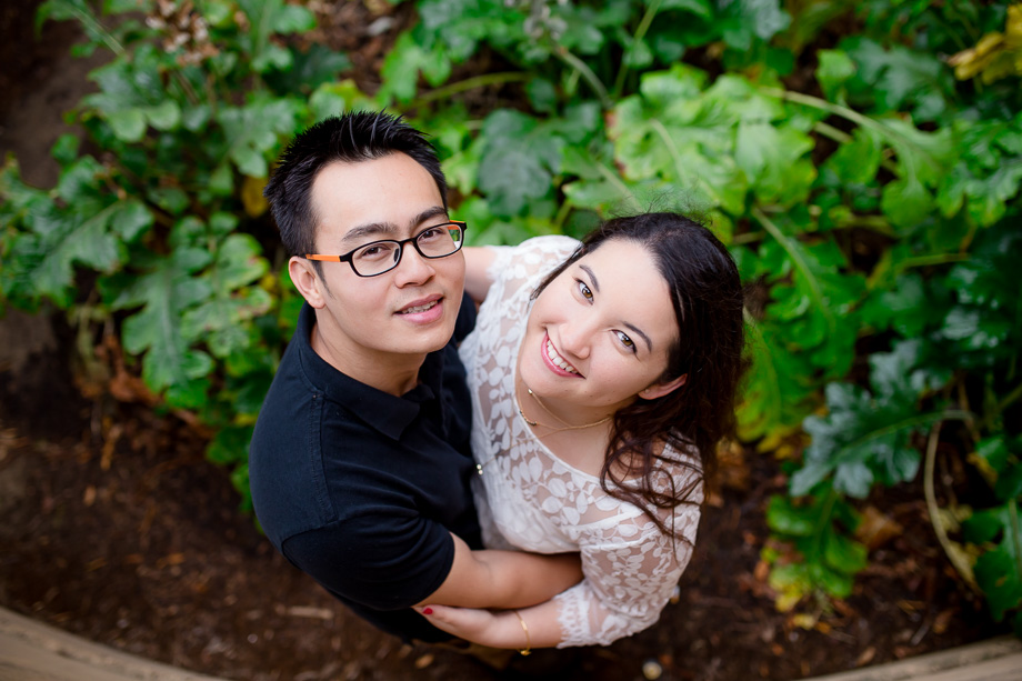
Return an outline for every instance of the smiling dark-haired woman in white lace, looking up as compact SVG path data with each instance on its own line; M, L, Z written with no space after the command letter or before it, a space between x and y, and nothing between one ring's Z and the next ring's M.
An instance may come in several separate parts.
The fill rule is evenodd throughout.
M461 354L484 542L579 551L585 579L520 611L419 610L523 653L641 631L688 564L704 471L733 427L734 263L674 213L611 220L581 244L540 237L467 259L467 289L482 301Z

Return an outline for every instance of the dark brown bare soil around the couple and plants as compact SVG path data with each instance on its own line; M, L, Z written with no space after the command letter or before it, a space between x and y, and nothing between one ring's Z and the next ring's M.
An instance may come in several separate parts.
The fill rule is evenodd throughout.
M36 3L0 11L2 33L18 39L3 46L13 67L3 72L16 77L0 80L0 101L10 102L0 110L0 152L16 150L26 178L49 186L56 168L46 150L88 64L64 54L73 34L66 27L49 24L32 39L26 17ZM373 50L362 52L367 63L378 59ZM607 648L517 658L502 672L404 645L274 552L238 513L227 473L204 460L206 440L186 421L84 399L73 348L58 318L11 311L0 320L0 605L127 652L238 680L610 681L659 672L745 681L880 664L999 633L939 548L919 482L865 504L891 531L874 538L851 598L822 614L806 607L802 620L776 612L760 552L765 505L784 478L772 455L739 451L705 509L679 598L652 629Z

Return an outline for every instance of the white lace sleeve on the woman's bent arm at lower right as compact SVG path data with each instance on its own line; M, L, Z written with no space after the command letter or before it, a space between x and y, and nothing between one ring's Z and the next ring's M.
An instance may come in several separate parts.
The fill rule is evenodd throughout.
M699 507L677 508L674 523L684 540L673 545L645 515L595 528L591 542L582 540L585 579L554 598L562 634L558 648L609 645L660 619L692 558Z

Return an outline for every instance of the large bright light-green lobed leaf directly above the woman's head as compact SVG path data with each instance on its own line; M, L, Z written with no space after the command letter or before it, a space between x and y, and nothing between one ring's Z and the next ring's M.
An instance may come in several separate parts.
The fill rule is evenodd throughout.
M750 191L764 203L804 202L815 170L802 122L743 78L703 89L705 80L683 66L647 73L641 94L618 104L609 133L624 177L663 179L732 216Z

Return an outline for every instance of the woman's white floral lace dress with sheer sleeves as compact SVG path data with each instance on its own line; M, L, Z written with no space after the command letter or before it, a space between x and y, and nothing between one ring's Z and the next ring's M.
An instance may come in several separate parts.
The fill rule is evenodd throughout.
M518 412L513 368L529 297L577 246L568 237L538 237L495 247L493 284L460 350L472 392L472 451L482 470L474 493L483 542L491 549L581 552L585 579L554 599L558 648L607 645L652 625L691 558L699 523L698 505L677 507L673 527L688 541L672 545L639 508L558 459ZM697 473L681 465L669 472L678 489L695 484L690 500L702 502ZM660 512L669 528L670 514Z

